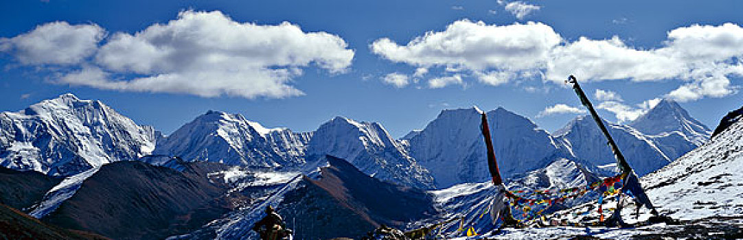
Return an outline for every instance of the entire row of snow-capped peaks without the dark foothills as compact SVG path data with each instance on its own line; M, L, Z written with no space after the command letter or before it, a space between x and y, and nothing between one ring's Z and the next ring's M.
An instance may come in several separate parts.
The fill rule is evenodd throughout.
M311 155L348 159L385 181L435 189L489 178L477 108L441 111L426 128L396 140L379 123L334 117L314 132L267 129L241 114L208 111L169 136L95 100L64 94L19 112L0 114L0 166L48 175L75 175L147 155L227 165L296 169ZM611 167L614 157L591 118L572 120L554 134L504 108L487 112L504 177L539 169L557 158ZM681 106L661 100L610 132L639 175L701 145L711 131ZM589 168L594 166L588 166ZM453 171L452 171L453 169Z

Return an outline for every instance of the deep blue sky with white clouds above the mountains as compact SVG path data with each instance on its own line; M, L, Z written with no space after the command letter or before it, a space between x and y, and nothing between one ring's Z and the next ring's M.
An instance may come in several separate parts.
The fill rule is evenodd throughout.
M0 111L72 92L165 133L213 109L295 131L340 115L400 137L443 108L502 106L552 132L583 114L559 82L576 74L608 120L632 120L670 97L714 128L743 103L742 9L741 1L3 1Z

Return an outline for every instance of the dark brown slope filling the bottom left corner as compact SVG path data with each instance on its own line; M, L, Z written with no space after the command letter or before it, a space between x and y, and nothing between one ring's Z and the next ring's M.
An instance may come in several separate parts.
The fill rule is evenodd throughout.
M19 210L0 204L0 239L106 239L91 233L44 224Z

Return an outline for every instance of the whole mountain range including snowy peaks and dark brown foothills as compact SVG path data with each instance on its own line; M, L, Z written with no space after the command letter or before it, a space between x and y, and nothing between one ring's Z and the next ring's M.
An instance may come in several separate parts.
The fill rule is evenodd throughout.
M363 226L348 236L380 224L414 227L406 223L430 223L451 217L447 213L475 218L468 211L487 205L493 193L481 184L490 179L481 112L447 109L424 129L395 139L380 123L346 117L334 117L314 132L292 132L265 128L241 114L207 111L163 136L100 101L64 94L0 114L0 166L25 171L7 170L13 178L41 183L22 191L10 181L0 184L0 200L45 224L117 239L184 233L248 238L266 204L281 206L285 215L314 218L323 216L313 210L331 207L328 214ZM551 134L504 108L486 114L510 188L574 187L614 171L614 156L589 117ZM606 124L639 175L669 165L711 134L671 100L631 123ZM389 206L396 211L379 201L394 203ZM141 221L125 224L127 219ZM311 223L303 221L292 226L308 237L333 233L330 225L317 231L311 225L307 233Z

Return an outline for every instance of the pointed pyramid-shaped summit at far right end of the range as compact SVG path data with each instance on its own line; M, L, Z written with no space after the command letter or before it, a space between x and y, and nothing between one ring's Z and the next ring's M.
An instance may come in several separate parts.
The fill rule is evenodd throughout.
M712 134L707 126L691 117L678 103L668 99L661 100L629 126L651 135L679 132L697 146L706 142Z

